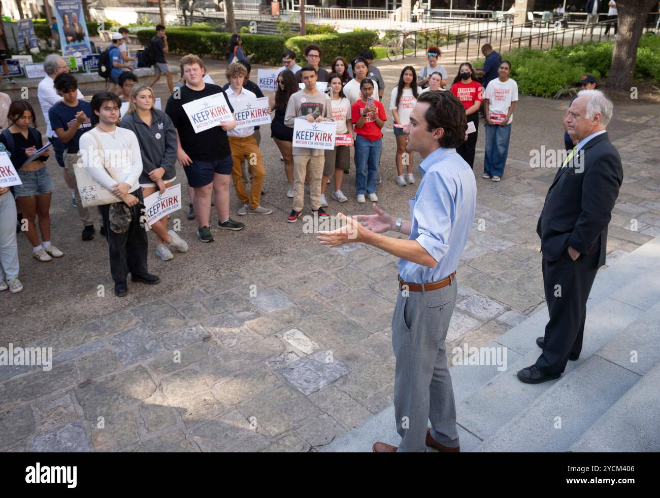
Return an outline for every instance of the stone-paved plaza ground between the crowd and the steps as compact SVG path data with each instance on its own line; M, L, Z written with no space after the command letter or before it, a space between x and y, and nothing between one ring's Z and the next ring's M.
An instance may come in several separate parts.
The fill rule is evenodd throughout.
M401 65L383 66L391 89ZM551 142L559 146L565 108L566 102L521 99L514 121L518 137L512 133L512 142L521 137L524 141L515 142L500 183L480 178L480 137L475 228L457 272L459 299L447 334L448 352L466 342L487 344L545 306L535 228L555 171L532 169L527 157L545 139L539 138L546 133L544 116L552 116L547 119L558 125ZM612 213L608 265L660 234L657 115L658 106L614 110L611 137L622 156L625 179ZM96 291L97 280L110 285L108 276L98 276L107 270L100 240L87 246L97 248L95 257L102 262L93 274L87 267L71 268L71 253L61 261L69 264L64 289L70 289L71 296L38 294L38 278L22 293L30 305L47 309L48 319L34 315L30 320L30 307L20 301L21 294L2 296L0 345L52 347L55 358L51 371L0 367L1 450L315 451L391 405L395 360L390 321L397 259L364 245L326 249L317 245L314 235L302 234L302 224L285 226L283 214L290 210L290 200L282 195L286 186L277 164L279 151L267 129L262 127L262 150L271 164L269 175L279 177L279 183L267 185L263 204L277 208L273 218L246 217L246 224L258 224L261 230L249 232L248 226L232 234L235 242L221 238L222 233L215 245L196 243L191 235L194 222L184 222L191 252L197 257L202 253L196 261L205 261L212 251L226 251L220 261L236 257L242 265L202 268L202 277L192 269L172 270L170 280L176 285L163 282L149 292L129 282L137 300L108 296L94 308L92 297L85 296ZM383 152L381 164L391 168L391 131L385 143L390 150ZM55 177L53 170L51 166ZM61 180L57 174L56 183ZM181 170L178 177L183 178ZM351 173L347 195L354 192L353 179ZM383 183L392 183L391 173L383 174ZM414 188L383 185L380 204L407 216L406 200ZM69 213L75 226L67 201L61 195L58 208ZM236 202L232 193L232 213ZM331 203L329 211L336 214L340 207L366 212L354 199L341 206ZM636 230L631 230L634 223ZM269 230L286 230L275 237L282 247L267 240ZM290 249L293 233L295 249ZM21 239L26 280L51 271L28 260ZM265 248L259 257L241 256L243 246L259 243ZM75 245L82 244L73 237L72 253ZM168 278L166 268L176 268L166 265L191 265L184 259L189 255L177 255L170 263L156 261L153 249L150 245L150 268L163 280ZM76 294L77 282L88 281L90 290ZM46 291L57 285L44 282ZM66 315L73 319L63 327L52 325L59 315L53 307L58 299L67 303L62 316L73 313ZM75 309L87 306L94 312ZM30 334L23 333L35 323L38 327Z

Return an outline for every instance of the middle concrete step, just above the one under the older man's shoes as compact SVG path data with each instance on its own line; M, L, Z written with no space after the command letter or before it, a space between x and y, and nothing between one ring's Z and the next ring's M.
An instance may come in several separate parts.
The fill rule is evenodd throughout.
M660 278L660 277L658 277ZM478 451L566 451L660 363L660 304L548 389Z

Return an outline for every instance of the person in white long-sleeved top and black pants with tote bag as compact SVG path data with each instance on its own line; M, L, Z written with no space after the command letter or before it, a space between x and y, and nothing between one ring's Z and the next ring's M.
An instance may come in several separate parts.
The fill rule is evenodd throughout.
M129 129L117 127L121 101L116 94L99 92L92 97L98 126L82 135L79 166L117 198L98 206L108 237L110 272L116 296L128 294L129 272L133 282L154 285L160 278L147 270L147 232L141 220L143 203L139 178L143 173L140 145Z

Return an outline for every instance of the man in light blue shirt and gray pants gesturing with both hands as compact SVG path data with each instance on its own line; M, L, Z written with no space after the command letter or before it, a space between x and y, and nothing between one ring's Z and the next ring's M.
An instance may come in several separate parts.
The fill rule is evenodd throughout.
M477 185L457 154L465 140L463 104L450 92L420 94L404 128L408 150L419 152L422 173L411 220L394 218L374 204L376 214L347 218L333 232L319 232L321 244L362 242L399 258L399 296L392 318L397 358L394 409L398 447L374 444L374 452L459 451L456 408L447 369L445 338L456 301L456 268L475 218ZM395 239L388 230L409 235ZM431 420L432 428L427 430Z

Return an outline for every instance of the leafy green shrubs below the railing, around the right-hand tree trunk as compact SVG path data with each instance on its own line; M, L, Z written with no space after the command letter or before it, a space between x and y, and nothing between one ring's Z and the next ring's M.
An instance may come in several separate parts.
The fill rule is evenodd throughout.
M573 86L583 75L607 78L614 42L585 42L554 46L548 50L519 49L503 53L511 61L511 77L521 94L551 97L562 88ZM484 59L473 61L481 67ZM634 77L660 81L660 37L644 34L637 48Z

